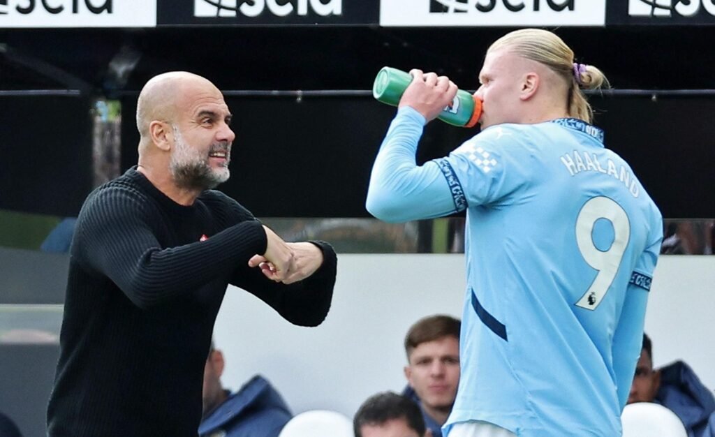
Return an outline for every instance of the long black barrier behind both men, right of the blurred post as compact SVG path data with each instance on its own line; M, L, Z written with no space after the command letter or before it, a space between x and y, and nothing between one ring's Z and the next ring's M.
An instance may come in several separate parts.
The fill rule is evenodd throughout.
M664 217L715 217L711 97L591 97L606 146L633 167ZM369 217L370 170L395 108L372 97L227 97L236 140L220 190L259 217ZM123 99L134 119L136 97ZM433 122L418 162L444 156L478 132ZM122 126L122 168L137 162L138 133Z

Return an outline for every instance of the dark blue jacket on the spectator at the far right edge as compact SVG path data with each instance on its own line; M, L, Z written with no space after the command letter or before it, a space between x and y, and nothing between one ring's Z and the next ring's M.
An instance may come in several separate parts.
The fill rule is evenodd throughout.
M715 421L710 434L706 433L706 428L715 411L715 397L686 363L676 361L661 368L661 387L655 401L676 413L683 421L688 437L713 436Z

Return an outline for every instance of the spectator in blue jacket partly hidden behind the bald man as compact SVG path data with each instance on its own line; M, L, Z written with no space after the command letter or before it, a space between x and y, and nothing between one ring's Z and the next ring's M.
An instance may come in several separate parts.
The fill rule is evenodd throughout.
M270 383L255 375L231 393L221 383L223 354L211 346L204 368L201 437L277 437L292 413Z

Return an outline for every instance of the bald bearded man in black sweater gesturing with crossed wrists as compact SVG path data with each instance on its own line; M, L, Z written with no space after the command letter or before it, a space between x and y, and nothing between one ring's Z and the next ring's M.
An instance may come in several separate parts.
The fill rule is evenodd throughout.
M77 220L49 436L197 436L229 284L296 325L327 315L332 247L284 242L212 190L230 175L230 122L219 89L195 74L160 74L139 94L139 163L94 190Z

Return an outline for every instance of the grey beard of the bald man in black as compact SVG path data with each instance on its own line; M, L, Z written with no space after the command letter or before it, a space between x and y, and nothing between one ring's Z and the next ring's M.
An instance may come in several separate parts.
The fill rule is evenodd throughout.
M228 180L230 155L227 143L211 145L209 153L215 149L226 151L225 167L213 170L209 166L208 154L202 156L201 152L187 144L177 126L172 126L172 129L174 130L174 150L169 162L169 171L172 173L177 187L187 190L208 190Z

